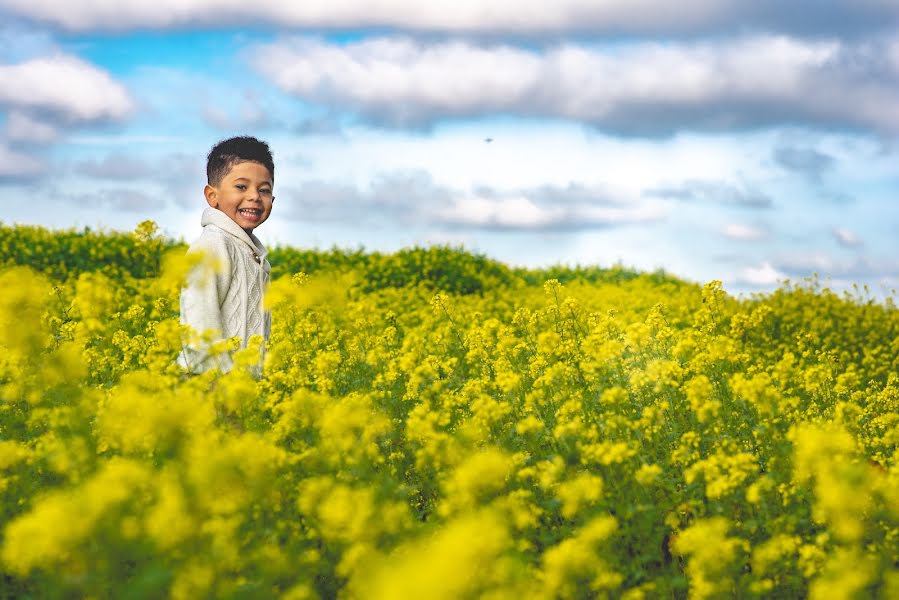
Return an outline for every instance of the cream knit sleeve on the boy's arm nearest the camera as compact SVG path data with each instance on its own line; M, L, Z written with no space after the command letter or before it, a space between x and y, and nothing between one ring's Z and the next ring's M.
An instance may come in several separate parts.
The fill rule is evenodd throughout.
M181 323L190 327L191 341L185 344L181 363L193 373L212 368L228 370L230 357L212 357L209 343L221 340L225 331L222 303L231 285L231 262L227 244L216 236L203 235L188 250L199 262L181 290ZM209 343L202 341L207 336ZM227 364L226 364L227 363Z

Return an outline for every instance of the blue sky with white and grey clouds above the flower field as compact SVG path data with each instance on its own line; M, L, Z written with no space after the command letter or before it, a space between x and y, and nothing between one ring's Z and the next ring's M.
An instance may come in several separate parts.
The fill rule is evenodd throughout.
M0 221L899 288L897 0L0 0Z

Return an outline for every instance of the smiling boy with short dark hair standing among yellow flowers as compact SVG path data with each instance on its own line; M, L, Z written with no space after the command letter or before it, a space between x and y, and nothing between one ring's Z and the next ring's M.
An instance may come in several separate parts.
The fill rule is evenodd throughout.
M206 162L203 195L203 233L189 254L203 253L215 269L195 268L181 290L181 323L214 340L237 337L246 347L251 336L266 341L271 334L271 313L262 307L271 265L265 246L253 234L272 211L275 165L268 144L241 136L213 146ZM212 368L228 371L228 354L210 356L208 344L183 349L179 362L191 373Z

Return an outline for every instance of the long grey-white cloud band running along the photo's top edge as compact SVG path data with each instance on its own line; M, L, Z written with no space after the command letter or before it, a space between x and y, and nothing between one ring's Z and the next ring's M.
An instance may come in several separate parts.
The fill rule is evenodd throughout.
M241 23L297 29L386 28L520 35L677 35L746 28L826 35L884 30L899 17L899 9L891 0L835 0L814 6L778 0L180 0L177 10L163 10L152 0L129 0L127 10L117 0L0 0L0 8L14 16L75 31L228 27Z

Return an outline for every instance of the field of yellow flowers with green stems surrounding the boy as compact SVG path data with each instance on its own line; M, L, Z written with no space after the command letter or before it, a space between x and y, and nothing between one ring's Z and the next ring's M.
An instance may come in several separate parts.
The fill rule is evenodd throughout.
M899 597L892 300L282 249L188 378L152 224L0 229L3 597Z

